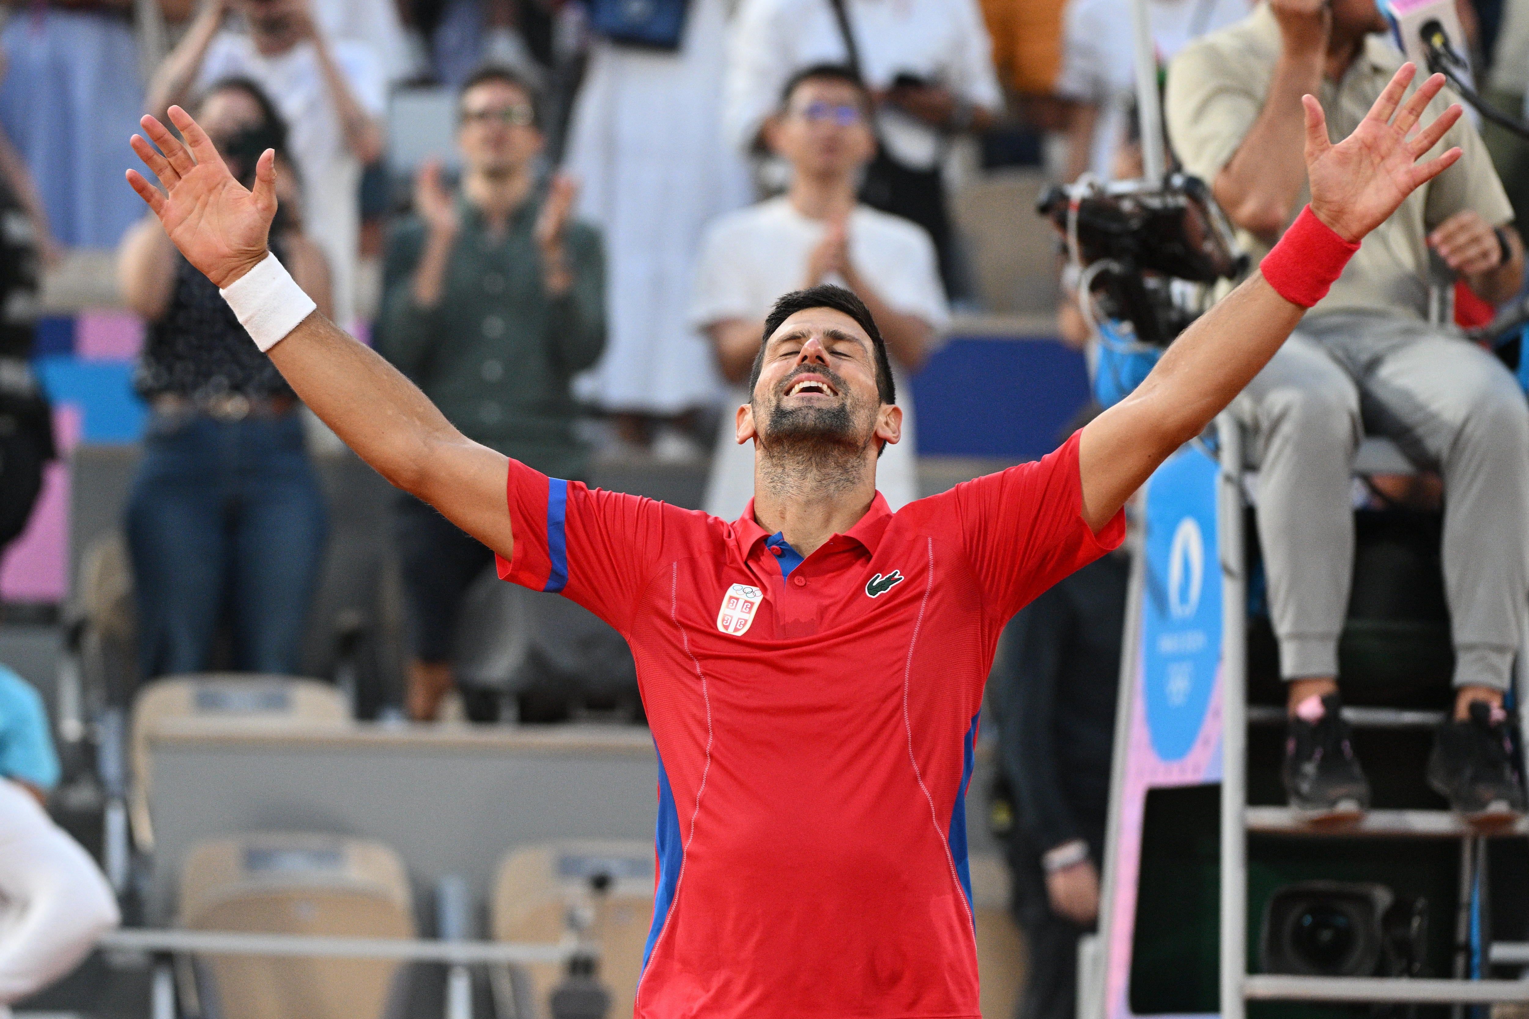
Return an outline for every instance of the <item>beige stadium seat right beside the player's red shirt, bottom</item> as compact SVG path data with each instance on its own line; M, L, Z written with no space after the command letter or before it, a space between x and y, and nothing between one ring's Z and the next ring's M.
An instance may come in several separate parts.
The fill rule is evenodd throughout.
M609 886L596 892L601 875ZM653 843L555 842L500 862L489 904L495 941L558 941L570 933L570 915L584 918L584 937L599 947L607 1014L630 1016L653 921ZM561 979L555 962L500 970L492 984L498 1014L549 1019L547 998Z

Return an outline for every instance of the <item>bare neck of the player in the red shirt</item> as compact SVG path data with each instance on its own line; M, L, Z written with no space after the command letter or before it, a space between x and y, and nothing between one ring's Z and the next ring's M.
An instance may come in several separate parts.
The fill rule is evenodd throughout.
M754 521L769 533L780 532L801 556L810 556L833 535L842 535L876 498L876 461L861 471L835 464L815 471L794 463L771 463L755 452Z

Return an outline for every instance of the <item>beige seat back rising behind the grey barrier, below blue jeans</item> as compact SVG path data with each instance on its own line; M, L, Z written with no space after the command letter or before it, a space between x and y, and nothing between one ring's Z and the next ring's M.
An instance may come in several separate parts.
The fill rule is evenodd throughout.
M144 852L154 848L148 808L153 781L148 733L170 720L208 717L341 726L350 718L350 704L327 683L286 675L173 675L141 687L133 698L128 746L133 762L133 840Z

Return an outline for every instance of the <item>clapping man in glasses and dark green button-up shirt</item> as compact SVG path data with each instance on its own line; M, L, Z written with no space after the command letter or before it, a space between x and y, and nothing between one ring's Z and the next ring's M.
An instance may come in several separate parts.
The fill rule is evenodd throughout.
M466 437L560 478L583 478L570 379L605 345L599 235L570 222L575 186L537 186L531 87L486 67L459 96L460 194L430 165L414 215L388 241L381 353ZM410 717L428 721L453 689L457 610L494 553L411 495L396 535L410 611Z

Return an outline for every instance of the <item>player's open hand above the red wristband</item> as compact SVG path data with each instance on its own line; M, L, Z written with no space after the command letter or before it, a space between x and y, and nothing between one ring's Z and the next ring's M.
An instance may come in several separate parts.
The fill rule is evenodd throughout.
M1353 134L1336 145L1327 141L1327 118L1323 116L1321 104L1309 95L1301 96L1306 105L1306 174L1312 182L1312 212L1350 243L1364 238L1408 194L1460 159L1460 150L1451 148L1425 163L1417 162L1460 119L1460 104L1451 105L1439 119L1408 137L1428 102L1443 89L1443 75L1434 75L1402 104L1416 70L1413 64L1402 64Z

